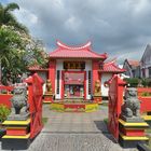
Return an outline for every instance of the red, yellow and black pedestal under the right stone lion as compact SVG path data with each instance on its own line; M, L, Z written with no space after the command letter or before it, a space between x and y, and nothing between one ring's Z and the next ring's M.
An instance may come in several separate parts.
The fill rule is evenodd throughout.
M141 119L128 120L123 118L119 120L119 142L124 148L136 148L139 142L149 140L145 133L149 125Z

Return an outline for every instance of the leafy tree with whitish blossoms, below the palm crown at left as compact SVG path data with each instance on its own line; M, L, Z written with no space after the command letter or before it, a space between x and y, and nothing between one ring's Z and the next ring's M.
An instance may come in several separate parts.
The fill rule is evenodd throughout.
M4 85L16 82L18 76L27 72L28 67L32 65L46 68L47 54L39 40L4 25L0 28L0 63Z

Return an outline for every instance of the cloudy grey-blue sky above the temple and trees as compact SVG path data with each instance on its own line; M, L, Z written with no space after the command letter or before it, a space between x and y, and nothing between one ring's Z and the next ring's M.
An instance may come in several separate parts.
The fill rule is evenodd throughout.
M140 59L151 43L151 0L0 0L20 6L15 16L47 52L56 39L69 45L92 41L93 50L119 61Z

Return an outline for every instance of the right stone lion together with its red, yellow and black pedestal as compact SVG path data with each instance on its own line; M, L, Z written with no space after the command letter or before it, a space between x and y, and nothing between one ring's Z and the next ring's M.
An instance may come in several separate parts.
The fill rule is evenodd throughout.
M139 143L147 142L146 128L149 125L140 116L140 100L137 98L136 88L125 91L125 101L119 119L119 143L124 148L136 148Z

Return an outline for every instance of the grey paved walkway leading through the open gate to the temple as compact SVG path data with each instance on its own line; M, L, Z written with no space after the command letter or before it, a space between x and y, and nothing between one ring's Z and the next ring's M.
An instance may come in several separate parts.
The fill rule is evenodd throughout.
M114 142L104 122L108 116L106 106L92 113L56 112L49 108L43 106L47 122L29 151L137 151Z

